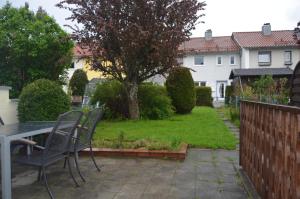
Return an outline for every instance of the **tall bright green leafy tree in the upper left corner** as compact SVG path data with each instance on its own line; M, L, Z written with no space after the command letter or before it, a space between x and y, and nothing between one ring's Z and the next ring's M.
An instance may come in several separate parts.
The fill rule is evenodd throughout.
M12 87L12 97L34 80L62 81L72 60L73 42L69 35L39 8L28 4L0 8L0 85Z

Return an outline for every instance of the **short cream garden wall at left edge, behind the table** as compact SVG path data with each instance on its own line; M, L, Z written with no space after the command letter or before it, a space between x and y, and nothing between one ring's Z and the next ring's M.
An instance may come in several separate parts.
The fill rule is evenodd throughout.
M0 86L0 116L5 124L18 123L16 100L9 99L10 87Z

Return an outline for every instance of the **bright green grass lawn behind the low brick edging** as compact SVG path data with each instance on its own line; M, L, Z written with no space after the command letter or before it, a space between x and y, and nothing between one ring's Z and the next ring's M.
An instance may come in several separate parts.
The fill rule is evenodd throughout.
M103 121L94 135L97 147L175 149L180 143L199 148L235 149L237 141L216 111L208 107L197 107L192 114L166 120Z

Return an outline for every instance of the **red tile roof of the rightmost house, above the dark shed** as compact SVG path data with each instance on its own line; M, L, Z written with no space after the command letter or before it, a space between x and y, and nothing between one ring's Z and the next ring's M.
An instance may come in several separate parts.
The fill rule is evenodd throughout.
M243 48L299 46L293 30L272 31L268 36L263 35L261 31L234 32L232 36Z

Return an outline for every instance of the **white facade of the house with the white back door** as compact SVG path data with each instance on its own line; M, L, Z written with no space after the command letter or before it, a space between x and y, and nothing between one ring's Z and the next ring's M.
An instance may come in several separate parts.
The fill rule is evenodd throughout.
M194 65L194 56L204 56L204 66ZM230 65L230 55L235 56L236 64ZM222 65L217 65L217 56L222 56ZM216 98L217 81L226 81L230 84L229 75L232 69L240 68L239 53L209 53L187 55L183 58L183 66L191 68L194 81L205 81L206 86L211 87L212 97Z

